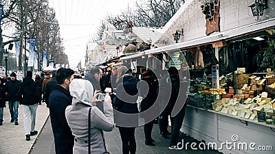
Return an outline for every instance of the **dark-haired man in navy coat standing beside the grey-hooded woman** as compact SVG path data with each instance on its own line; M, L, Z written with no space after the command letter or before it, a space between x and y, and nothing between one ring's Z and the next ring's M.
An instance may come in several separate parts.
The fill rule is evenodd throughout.
M57 84L54 85L49 97L50 118L56 154L73 153L74 136L65 117L66 107L72 105L72 97L68 89L73 79L74 70L59 68L56 71Z

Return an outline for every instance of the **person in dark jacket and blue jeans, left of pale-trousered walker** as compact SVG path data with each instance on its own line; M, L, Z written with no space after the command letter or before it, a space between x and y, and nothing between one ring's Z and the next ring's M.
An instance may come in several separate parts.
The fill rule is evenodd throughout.
M14 125L19 125L18 123L18 90L21 81L17 80L17 74L12 72L10 74L10 81L7 81L6 88L8 92L8 104L10 109L10 123L14 123Z

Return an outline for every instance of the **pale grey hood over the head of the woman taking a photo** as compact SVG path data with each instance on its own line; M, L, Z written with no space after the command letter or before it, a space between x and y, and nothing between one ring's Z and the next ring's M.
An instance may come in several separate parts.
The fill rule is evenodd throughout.
M94 97L94 88L91 83L85 79L74 79L71 84L69 84L69 93L72 95L73 99L91 105L91 100ZM77 101L73 101L72 105Z

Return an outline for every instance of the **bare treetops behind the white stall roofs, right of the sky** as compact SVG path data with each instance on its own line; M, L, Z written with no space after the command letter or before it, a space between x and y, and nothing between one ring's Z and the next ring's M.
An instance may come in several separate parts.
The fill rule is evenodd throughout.
M108 15L107 21L117 29L127 28L129 22L133 27L163 27L184 2L184 0L135 1L134 11L128 8L118 15Z

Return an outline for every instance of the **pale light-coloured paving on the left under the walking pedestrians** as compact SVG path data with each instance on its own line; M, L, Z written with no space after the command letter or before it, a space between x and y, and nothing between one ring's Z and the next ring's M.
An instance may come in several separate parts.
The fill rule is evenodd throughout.
M14 123L10 123L10 110L8 108L8 102L4 108L3 125L0 126L0 153L5 154L27 154L29 153L32 145L36 141L36 136L31 136L30 141L25 140L25 133L23 128L23 113L22 105L19 105L18 123L16 126ZM45 103L39 105L36 111L36 125L35 130L41 132L47 117L49 116L49 109Z

